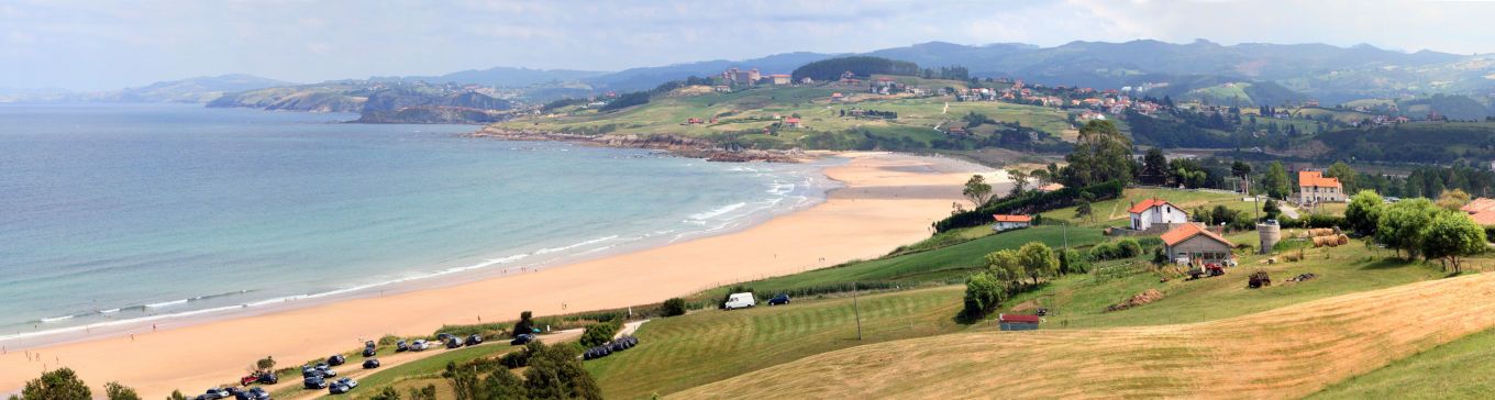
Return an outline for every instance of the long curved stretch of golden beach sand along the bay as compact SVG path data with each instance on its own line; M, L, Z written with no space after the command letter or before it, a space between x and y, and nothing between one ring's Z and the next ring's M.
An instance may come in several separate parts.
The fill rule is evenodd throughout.
M840 154L827 176L846 187L825 203L742 231L443 288L354 299L182 327L135 330L0 355L0 393L45 369L72 367L99 388L118 381L145 397L202 393L238 382L274 355L283 366L359 348L384 334L431 334L443 324L507 321L522 310L555 315L662 301L710 287L875 258L928 237L961 184L990 172L951 158ZM969 203L967 203L969 204ZM102 394L102 390L96 390Z

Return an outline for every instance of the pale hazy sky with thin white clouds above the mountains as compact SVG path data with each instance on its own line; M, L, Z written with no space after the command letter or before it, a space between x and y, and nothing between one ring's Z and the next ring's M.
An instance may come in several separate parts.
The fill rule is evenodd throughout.
M1495 51L1495 1L0 0L0 88L103 91L496 66L620 70L770 54L1196 39Z

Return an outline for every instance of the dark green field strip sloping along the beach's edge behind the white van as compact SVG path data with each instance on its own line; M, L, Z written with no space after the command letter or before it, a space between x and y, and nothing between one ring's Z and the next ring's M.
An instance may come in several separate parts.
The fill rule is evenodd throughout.
M975 227L985 228L990 227ZM1067 231L1067 233L1066 233ZM967 233L969 234L969 233ZM1000 234L982 236L958 245L943 246L934 251L912 252L898 257L887 257L872 261L848 263L837 267L810 270L788 276L768 278L742 284L753 291L767 294L795 288L821 285L839 285L851 282L900 282L928 284L961 281L970 272L982 267L982 257L999 249L1015 249L1029 242L1044 242L1060 248L1064 237L1070 246L1094 245L1105 240L1099 230L1091 228L1061 228L1054 225L1038 225L1026 230L1006 231ZM707 297L721 297L728 288L707 291Z

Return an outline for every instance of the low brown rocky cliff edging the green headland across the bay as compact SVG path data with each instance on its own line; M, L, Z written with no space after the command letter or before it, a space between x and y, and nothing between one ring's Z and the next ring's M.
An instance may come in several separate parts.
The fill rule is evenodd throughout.
M740 149L715 143L698 137L683 137L674 134L574 134L540 130L513 130L502 127L484 127L471 134L472 137L493 137L504 140L543 140L543 142L576 142L608 148L661 149L680 157L706 158L718 163L800 163L804 152Z

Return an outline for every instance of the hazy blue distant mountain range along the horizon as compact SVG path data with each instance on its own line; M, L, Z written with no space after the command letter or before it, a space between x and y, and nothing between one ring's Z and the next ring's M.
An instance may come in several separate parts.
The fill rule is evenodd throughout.
M873 55L913 61L921 67L963 66L972 76L1015 78L1032 84L1091 88L1148 87L1148 96L1212 103L1280 104L1317 99L1337 104L1357 99L1410 99L1462 94L1491 103L1495 94L1495 57L1435 51L1399 52L1369 45L1220 45L1208 40L1166 43L1070 42L1044 48L1024 43L957 45L930 42L864 54L788 52L761 58L712 60L637 67L620 72L538 70L493 67L440 76L375 76L348 82L475 84L505 88L505 99L546 101L605 91L638 91L686 76L713 76L730 67L762 73L789 73L798 66L846 55ZM317 85L335 85L324 82ZM227 93L289 88L293 84L248 75L224 75L152 84L105 94L0 93L15 99L103 101L206 103ZM308 85L300 85L302 91ZM18 91L10 91L18 93ZM253 96L251 96L253 97ZM284 97L292 99L293 97ZM326 99L324 99L326 100ZM254 101L251 101L254 103ZM326 103L333 109L357 107ZM302 107L302 106L292 106Z

